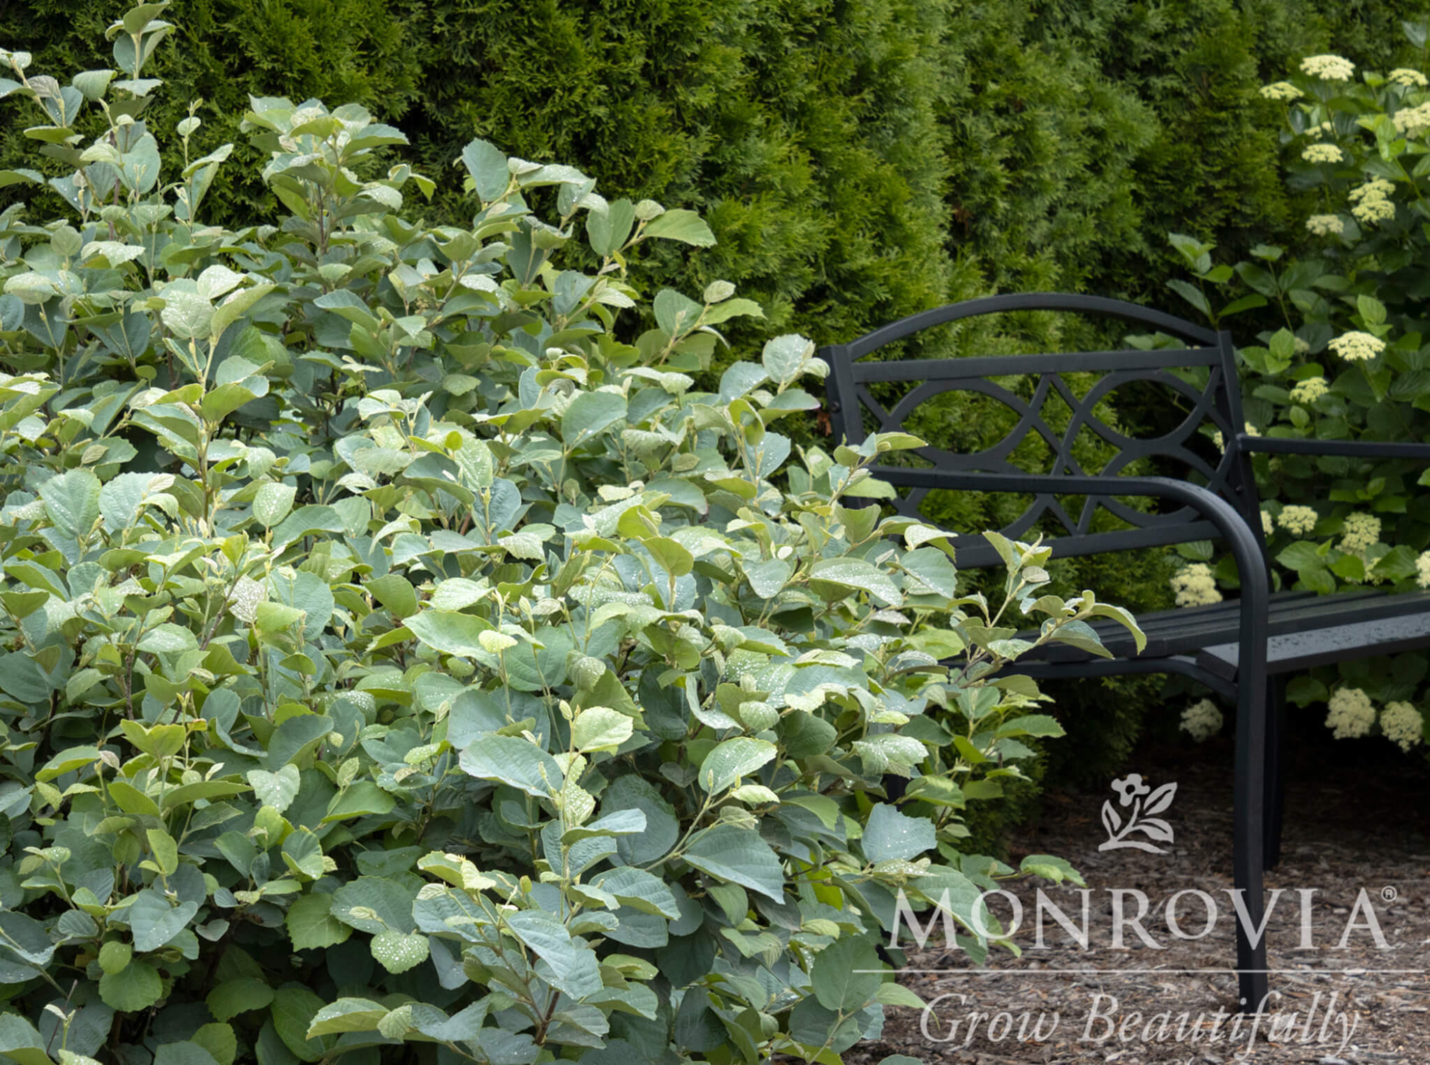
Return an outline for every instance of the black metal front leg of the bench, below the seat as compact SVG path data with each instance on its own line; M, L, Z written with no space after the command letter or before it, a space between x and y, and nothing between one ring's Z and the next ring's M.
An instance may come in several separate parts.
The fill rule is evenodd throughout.
M1248 1014L1260 1008L1268 984L1266 935L1261 929L1266 911L1261 889L1261 862L1266 856L1261 846L1266 759L1266 675L1243 676L1237 690L1236 829L1231 868L1246 905L1246 921L1237 915L1237 985L1241 1011ZM1257 933L1258 929L1263 931L1261 935Z

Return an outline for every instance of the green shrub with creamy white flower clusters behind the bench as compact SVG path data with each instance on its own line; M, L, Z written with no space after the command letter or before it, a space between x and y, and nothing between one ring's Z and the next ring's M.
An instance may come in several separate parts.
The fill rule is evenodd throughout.
M1406 24L1417 49L1426 26ZM1357 70L1341 56L1304 59L1263 87L1286 120L1287 183L1310 192L1297 254L1261 246L1213 264L1210 244L1174 236L1197 283L1174 287L1213 322L1261 309L1270 327L1240 349L1254 432L1323 440L1430 439L1430 79L1419 69ZM1216 302L1216 306L1214 306ZM1263 523L1277 579L1318 593L1363 585L1430 588L1430 473L1407 460L1257 456ZM1190 552L1178 603L1213 602L1228 585L1210 545ZM1430 739L1427 656L1350 662L1297 678L1298 703L1328 702L1336 736L1377 730L1410 751ZM1380 705L1377 715L1376 706Z

